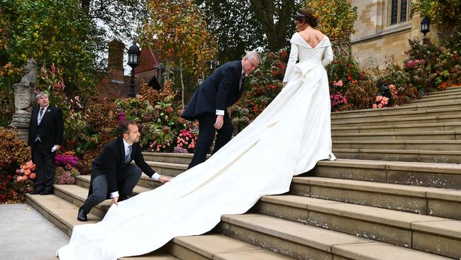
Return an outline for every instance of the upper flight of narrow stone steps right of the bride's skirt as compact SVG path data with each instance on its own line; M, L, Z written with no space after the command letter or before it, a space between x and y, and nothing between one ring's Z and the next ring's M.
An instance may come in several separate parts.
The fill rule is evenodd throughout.
M432 92L396 108L335 112L333 152L338 158L461 162L461 87Z

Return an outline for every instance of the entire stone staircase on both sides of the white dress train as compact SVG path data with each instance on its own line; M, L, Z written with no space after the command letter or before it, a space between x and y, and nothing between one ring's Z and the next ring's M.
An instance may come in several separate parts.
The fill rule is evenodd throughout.
M461 259L460 96L453 88L405 107L333 113L338 161L318 162L293 178L289 193L262 197L244 215L225 215L207 234L124 259ZM174 177L191 154L145 159ZM143 175L134 193L158 185ZM70 236L82 224L77 210L88 187L83 175L76 185L55 185L54 195L27 201ZM94 207L89 223L109 206L107 200Z

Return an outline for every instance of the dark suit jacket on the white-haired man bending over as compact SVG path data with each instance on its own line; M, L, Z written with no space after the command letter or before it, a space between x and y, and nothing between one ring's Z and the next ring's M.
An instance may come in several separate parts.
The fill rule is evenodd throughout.
M244 82L239 90L241 75L241 60L231 61L218 67L201 83L181 117L193 121L204 112L215 114L216 109L226 111L242 96Z

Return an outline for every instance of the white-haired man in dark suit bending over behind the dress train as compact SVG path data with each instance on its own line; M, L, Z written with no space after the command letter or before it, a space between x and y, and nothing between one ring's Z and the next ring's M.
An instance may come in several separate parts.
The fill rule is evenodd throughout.
M181 115L187 120L199 120L199 139L195 144L194 157L189 168L205 161L216 131L218 135L213 153L230 141L233 133L229 117L231 106L242 96L245 77L259 64L260 56L255 51L250 51L242 60L218 67L196 90Z

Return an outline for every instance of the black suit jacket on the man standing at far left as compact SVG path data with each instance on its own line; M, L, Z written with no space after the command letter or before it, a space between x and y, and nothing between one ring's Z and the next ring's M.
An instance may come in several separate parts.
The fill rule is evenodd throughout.
M46 149L51 151L55 144L62 145L62 134L64 132L64 123L62 121L61 109L49 105L43 112L42 120L38 124L38 112L40 107L35 107L30 115L28 146L33 148L35 139L40 136L40 141Z

